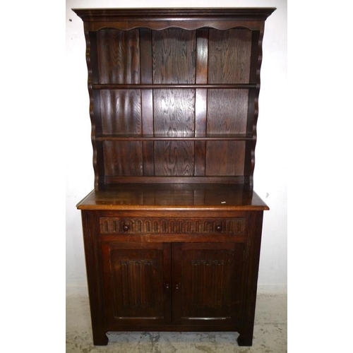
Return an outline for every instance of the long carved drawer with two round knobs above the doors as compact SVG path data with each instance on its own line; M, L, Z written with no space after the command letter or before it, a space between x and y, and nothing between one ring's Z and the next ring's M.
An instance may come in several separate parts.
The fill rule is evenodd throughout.
M246 217L100 217L101 234L245 234Z

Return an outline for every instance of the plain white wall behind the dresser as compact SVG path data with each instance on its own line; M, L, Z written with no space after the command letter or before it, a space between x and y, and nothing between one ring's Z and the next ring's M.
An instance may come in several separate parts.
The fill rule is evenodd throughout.
M276 7L265 22L254 190L269 205L263 221L258 285L287 286L287 1L66 0L66 286L85 290L85 258L76 204L93 189L89 97L83 22L71 8Z

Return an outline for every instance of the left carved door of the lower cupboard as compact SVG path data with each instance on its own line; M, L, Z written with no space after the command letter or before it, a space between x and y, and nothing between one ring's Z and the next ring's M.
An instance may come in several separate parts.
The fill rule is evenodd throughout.
M102 262L108 325L171 323L170 244L102 241Z

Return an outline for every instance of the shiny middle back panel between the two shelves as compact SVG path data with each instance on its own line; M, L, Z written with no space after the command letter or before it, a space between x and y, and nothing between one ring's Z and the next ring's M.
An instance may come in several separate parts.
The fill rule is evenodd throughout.
M153 90L153 108L155 133L194 133L195 90Z

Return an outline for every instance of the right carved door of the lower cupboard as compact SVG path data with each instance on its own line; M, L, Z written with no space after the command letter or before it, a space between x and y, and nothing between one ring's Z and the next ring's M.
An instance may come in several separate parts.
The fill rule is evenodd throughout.
M244 243L172 244L173 323L237 325Z

